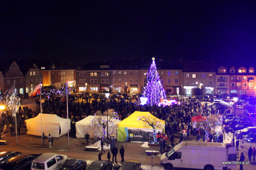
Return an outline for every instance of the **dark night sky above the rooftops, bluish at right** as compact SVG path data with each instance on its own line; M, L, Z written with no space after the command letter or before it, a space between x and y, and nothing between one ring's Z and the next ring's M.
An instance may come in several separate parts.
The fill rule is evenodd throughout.
M6 1L0 58L256 61L256 1Z

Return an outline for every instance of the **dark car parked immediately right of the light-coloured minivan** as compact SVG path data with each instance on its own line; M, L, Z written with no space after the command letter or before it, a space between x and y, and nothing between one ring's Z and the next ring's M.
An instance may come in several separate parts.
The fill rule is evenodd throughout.
M63 164L61 170L85 170L86 165L86 161L69 159Z

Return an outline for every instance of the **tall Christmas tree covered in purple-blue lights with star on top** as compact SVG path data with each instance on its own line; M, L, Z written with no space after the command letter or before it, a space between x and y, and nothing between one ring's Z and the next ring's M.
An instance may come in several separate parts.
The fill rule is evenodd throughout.
M143 91L143 95L148 98L147 103L150 105L160 103L160 99L166 99L165 89L163 89L155 66L155 58L152 58L152 60L152 64L147 74L147 84Z

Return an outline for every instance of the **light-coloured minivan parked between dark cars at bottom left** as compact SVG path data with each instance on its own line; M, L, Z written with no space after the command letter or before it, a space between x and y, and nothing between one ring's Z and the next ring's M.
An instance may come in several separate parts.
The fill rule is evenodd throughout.
M43 153L34 159L31 170L59 170L67 159L67 155Z

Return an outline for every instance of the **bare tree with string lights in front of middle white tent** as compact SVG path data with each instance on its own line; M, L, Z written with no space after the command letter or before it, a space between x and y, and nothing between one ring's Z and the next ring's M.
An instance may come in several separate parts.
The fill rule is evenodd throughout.
M108 120L107 120L108 119ZM106 127L107 122L108 125L112 126L114 125L114 120L119 120L119 116L117 112L115 112L112 108L108 109L108 118L107 118L107 111L104 111L102 114L101 111L96 111L94 114L94 117L90 120L90 125L103 128L103 139L106 137Z

